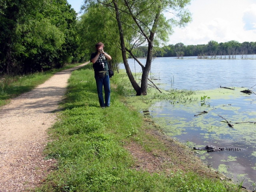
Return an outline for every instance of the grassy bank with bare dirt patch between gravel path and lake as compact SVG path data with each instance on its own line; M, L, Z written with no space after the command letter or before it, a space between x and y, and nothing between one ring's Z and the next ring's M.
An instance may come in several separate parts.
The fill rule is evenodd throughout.
M152 119L125 104L122 74L111 79L111 107L99 107L91 66L72 73L60 120L45 150L57 169L41 192L237 192L192 151L160 134ZM114 84L113 84L114 83Z

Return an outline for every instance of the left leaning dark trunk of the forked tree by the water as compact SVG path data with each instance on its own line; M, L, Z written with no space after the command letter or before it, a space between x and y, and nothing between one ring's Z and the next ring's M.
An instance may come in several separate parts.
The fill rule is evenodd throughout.
M121 45L122 59L123 59L124 65L125 65L125 70L126 70L126 73L128 75L129 80L131 81L132 87L136 91L136 95L139 96L139 95L141 95L141 88L137 84L137 82L134 79L134 76L131 73L131 69L129 67L127 57L126 57L125 40L124 40L124 36L123 36L122 24L121 24L121 21L119 20L119 9L118 9L118 6L116 4L116 1L113 1L113 3L114 3L114 6L115 6L115 11L116 11L116 20L117 20L117 24L118 24L118 28L119 28L119 35L120 35L120 41L121 41L120 45Z

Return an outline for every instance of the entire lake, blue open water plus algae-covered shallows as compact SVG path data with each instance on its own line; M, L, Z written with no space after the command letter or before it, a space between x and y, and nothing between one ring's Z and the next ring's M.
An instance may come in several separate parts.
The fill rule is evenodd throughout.
M140 61L145 64L145 59ZM128 59L128 63L133 72L141 73L134 59ZM165 134L189 147L242 148L242 151L196 152L213 169L254 190L256 124L250 122L256 122L256 60L155 58L150 77L162 89L195 90L193 97L199 98L198 102L186 104L160 101L149 108L150 115L163 127ZM254 93L240 92L246 89ZM202 102L202 96L209 99ZM198 115L202 111L207 113ZM224 119L234 127L229 127Z

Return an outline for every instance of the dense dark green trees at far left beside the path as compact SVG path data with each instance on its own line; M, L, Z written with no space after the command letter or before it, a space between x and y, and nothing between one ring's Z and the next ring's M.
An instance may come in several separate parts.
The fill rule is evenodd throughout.
M0 74L24 74L77 61L76 12L67 0L4 1Z

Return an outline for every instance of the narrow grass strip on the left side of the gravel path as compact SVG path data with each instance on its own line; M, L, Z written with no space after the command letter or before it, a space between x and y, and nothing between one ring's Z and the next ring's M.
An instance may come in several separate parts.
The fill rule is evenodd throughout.
M44 83L56 72L77 65L79 64L69 64L61 69L50 70L44 73L33 73L23 76L0 76L0 106L6 105L9 99L14 98L21 93L28 92L39 84Z

